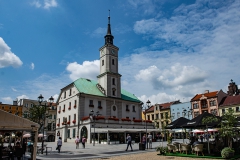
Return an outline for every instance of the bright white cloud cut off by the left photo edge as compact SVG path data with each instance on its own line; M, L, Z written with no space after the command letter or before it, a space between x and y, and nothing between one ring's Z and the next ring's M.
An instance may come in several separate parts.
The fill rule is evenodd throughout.
M14 53L11 52L11 48L0 37L0 68L12 66L20 67L22 61Z

